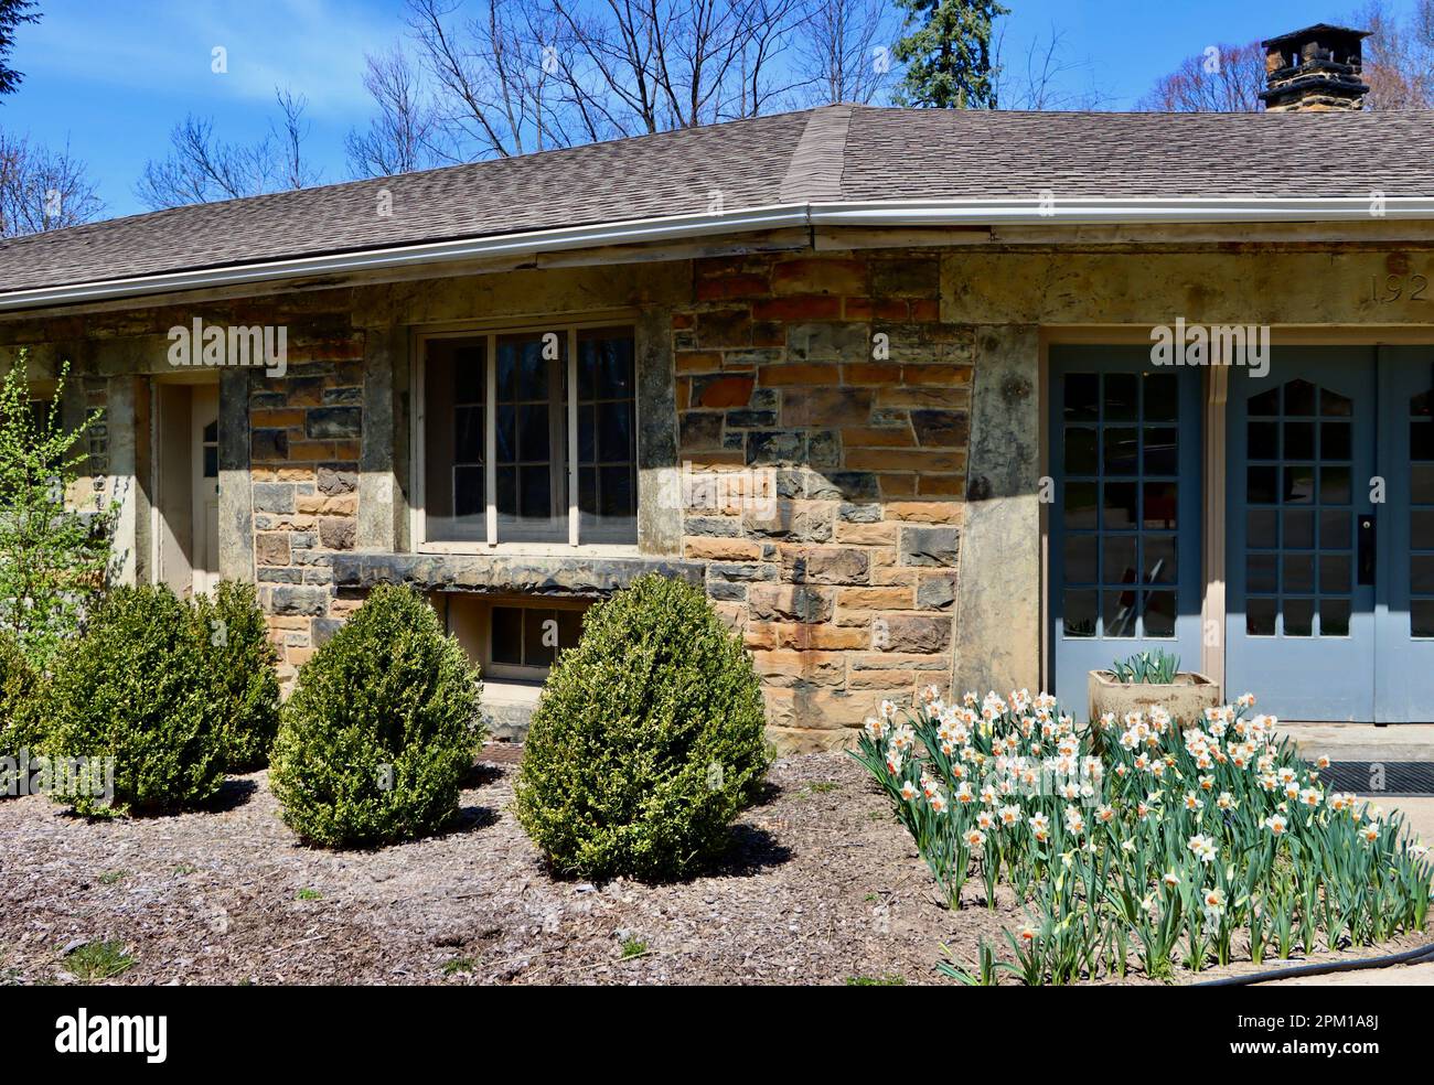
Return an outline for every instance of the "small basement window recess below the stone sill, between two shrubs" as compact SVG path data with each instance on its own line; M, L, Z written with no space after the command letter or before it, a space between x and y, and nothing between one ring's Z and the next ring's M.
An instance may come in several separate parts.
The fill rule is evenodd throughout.
M447 593L439 612L485 678L542 682L578 644L589 601Z

